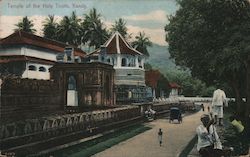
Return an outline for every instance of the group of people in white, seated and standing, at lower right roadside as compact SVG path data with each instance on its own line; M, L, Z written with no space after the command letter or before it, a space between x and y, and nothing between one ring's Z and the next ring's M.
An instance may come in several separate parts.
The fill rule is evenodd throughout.
M213 99L211 106L208 106L209 114L203 114L201 116L202 124L196 129L198 135L197 150L202 157L221 157L229 156L233 148L225 149L222 147L220 138L216 131L216 125L223 126L223 107L228 106L225 92L221 89L217 89L213 93ZM204 110L204 105L201 105ZM211 112L210 112L211 109ZM244 126L239 118L231 116L229 118L231 125L236 128L238 137L242 143L246 146L246 150L242 152L242 155L247 155L250 140L250 134L248 133L247 126ZM245 123L246 124L246 123Z

